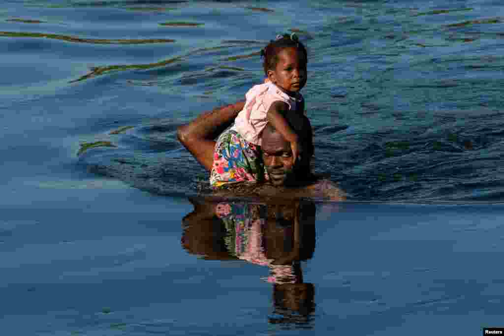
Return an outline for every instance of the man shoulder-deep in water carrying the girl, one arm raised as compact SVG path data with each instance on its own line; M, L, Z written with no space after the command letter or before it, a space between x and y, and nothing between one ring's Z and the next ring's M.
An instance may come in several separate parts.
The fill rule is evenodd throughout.
M214 139L232 124L244 104L244 101L240 101L205 112L192 122L178 127L178 140L208 171L212 170L213 165L216 144ZM345 195L338 187L310 172L313 144L308 118L293 114L287 121L300 139L302 154L298 160L293 161L289 142L280 132L268 125L263 130L261 150L269 181L257 185L233 183L232 186L229 185L228 191L231 190L237 195L255 193L267 196L329 197L332 200L344 200Z

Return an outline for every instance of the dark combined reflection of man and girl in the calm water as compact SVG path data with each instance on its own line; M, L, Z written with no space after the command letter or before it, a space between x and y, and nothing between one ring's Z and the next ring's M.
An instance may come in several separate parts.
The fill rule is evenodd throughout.
M182 220L182 246L204 259L241 259L268 266L273 285L270 323L310 324L314 288L303 283L301 260L315 248L316 207L306 200L191 198Z

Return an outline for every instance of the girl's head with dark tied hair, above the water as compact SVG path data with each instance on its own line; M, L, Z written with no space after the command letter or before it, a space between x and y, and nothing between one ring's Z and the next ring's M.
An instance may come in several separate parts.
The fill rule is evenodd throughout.
M287 91L297 92L306 84L307 52L295 34L278 35L263 50L264 73L271 82Z

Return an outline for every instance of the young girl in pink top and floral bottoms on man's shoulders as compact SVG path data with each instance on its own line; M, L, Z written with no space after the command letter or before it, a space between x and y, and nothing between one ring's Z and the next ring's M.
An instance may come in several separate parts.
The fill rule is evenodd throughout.
M213 187L268 179L260 151L261 133L268 122L290 143L293 162L301 154L298 136L284 115L304 113L304 99L299 91L306 84L306 48L295 34L285 34L271 41L261 55L267 79L248 90L245 106L234 125L217 139L210 173Z

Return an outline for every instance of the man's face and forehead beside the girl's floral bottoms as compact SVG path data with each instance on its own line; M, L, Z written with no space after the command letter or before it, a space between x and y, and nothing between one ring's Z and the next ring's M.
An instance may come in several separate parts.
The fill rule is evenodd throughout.
M290 144L280 132L263 133L263 162L273 185L284 185L293 179L294 161Z

